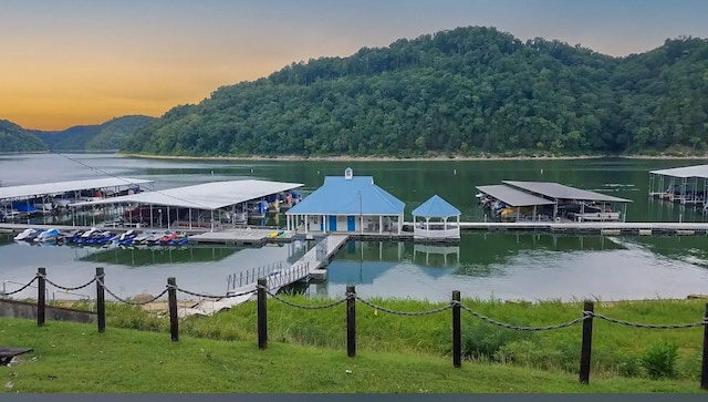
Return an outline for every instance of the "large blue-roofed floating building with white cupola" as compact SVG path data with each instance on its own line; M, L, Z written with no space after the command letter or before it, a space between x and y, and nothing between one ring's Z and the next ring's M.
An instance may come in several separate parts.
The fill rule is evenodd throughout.
M400 235L406 205L374 184L372 176L327 176L322 187L290 208L288 230L304 226L304 233L361 233Z

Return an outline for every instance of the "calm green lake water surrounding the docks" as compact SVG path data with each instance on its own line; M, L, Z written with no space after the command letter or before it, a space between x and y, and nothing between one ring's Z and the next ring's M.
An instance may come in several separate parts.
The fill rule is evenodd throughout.
M482 220L477 185L502 179L550 181L629 198L628 221L705 221L690 208L648 198L648 172L705 161L430 161L430 162L202 162L122 157L105 154L0 156L2 186L100 178L107 175L155 181L154 188L208 181L272 179L303 183L312 190L326 175L371 175L410 210L437 194L462 212L462 220ZM279 220L284 224L284 219ZM340 297L347 284L364 297L447 300L452 290L482 299L684 298L708 293L708 238L553 236L539 234L464 234L459 246L424 247L413 243L351 241L329 267L329 279L300 289ZM300 245L180 247L175 249L93 249L29 246L0 236L0 280L17 289L46 267L63 286L77 286L106 270L106 286L122 297L158 293L167 277L180 287L223 293L229 276L254 267L288 264ZM50 288L53 292L55 289ZM91 295L92 290L75 293ZM31 297L28 289L22 296ZM56 291L56 298L76 298Z

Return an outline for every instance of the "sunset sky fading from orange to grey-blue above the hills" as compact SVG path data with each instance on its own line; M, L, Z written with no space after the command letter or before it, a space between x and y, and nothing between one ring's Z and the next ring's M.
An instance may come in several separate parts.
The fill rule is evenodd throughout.
M291 62L467 25L626 55L708 38L708 0L0 0L0 120L159 116Z

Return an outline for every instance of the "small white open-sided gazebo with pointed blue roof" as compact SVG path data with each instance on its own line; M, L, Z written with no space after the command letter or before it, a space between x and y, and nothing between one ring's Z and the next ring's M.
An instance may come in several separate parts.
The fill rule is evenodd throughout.
M438 195L413 210L413 239L445 240L460 238L460 210ZM417 221L421 217L425 221ZM457 225L448 223L457 217Z

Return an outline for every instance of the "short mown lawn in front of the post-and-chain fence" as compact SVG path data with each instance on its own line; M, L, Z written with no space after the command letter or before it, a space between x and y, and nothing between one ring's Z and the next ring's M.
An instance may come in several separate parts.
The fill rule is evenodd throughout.
M238 315L214 320L228 322L231 316ZM581 385L564 372L470 362L455 369L449 359L415 351L369 347L347 358L344 349L275 340L259 350L254 340L181 336L171 342L168 333L113 327L97 333L93 324L58 321L39 328L33 320L0 319L0 337L7 346L34 348L19 364L0 368L6 385L0 390L9 393L700 392L698 382L688 380L591 375L591 383Z

